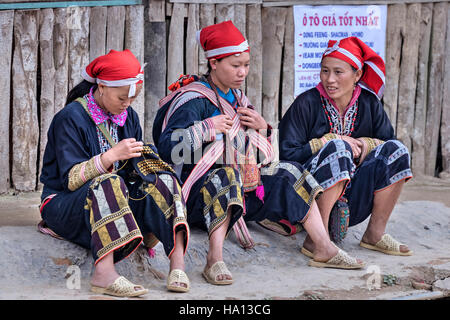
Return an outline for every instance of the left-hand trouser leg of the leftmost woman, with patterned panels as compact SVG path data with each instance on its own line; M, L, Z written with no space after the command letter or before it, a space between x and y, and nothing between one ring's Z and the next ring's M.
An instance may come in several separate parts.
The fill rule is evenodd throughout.
M91 249L95 263L110 252L118 262L142 240L128 206L128 190L115 174L101 175L75 191L58 193L43 208L42 218L59 236Z

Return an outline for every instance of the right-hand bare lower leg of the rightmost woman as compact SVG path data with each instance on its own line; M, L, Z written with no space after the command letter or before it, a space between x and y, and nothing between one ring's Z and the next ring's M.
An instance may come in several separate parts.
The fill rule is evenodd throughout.
M399 181L375 194L372 215L370 216L369 224L367 225L362 241L373 245L381 240L404 184L404 180ZM409 249L407 246L401 245L400 251L408 252Z

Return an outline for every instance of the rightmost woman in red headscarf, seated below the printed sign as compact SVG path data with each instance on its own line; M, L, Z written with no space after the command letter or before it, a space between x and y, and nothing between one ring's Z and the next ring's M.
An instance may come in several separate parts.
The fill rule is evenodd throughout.
M412 172L409 152L396 140L380 102L384 68L383 59L360 39L331 40L320 83L299 95L280 123L280 158L302 163L325 190L317 204L333 239L340 241L348 226L370 215L361 246L411 255L406 245L385 234ZM338 199L339 206L348 203L349 215L334 216L345 212L338 210ZM308 237L302 252L311 250Z

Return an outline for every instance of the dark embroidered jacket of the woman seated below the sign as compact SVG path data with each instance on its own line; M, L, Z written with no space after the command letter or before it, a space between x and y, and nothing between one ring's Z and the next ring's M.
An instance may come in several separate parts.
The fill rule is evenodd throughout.
M333 114L331 103L321 96L317 88L305 91L283 116L279 130L280 159L302 164L327 141L339 138L339 135L364 137L369 149L383 141L395 139L394 128L383 105L365 89L361 89L340 123L339 116Z

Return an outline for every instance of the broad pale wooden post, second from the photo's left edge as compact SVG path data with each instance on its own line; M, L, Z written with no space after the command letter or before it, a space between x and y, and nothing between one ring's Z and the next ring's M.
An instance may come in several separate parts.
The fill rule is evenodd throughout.
M13 187L19 191L33 191L36 187L38 21L38 10L15 11L11 153Z

